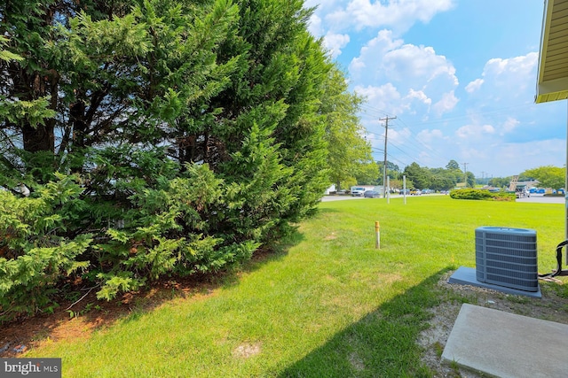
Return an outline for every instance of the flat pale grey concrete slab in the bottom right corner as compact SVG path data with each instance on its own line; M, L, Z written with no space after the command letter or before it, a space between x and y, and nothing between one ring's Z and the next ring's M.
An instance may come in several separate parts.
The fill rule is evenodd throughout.
M568 325L465 304L442 362L501 378L568 376Z

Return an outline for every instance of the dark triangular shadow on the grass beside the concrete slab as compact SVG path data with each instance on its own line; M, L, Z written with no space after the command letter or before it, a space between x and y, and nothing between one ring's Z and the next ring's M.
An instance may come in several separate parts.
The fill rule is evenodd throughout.
M439 304L444 269L381 305L326 344L288 366L288 377L431 377L417 343L428 328L429 309Z

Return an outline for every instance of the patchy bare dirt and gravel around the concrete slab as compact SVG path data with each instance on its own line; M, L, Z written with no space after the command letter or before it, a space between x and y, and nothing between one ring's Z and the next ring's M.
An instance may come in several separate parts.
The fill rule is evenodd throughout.
M533 298L469 285L451 284L447 280L452 274L454 272L444 274L438 282L439 289L445 293L443 301L431 309L433 318L429 321L430 328L422 332L418 341L424 348L422 362L436 372L434 376L437 378L482 378L485 376L461 367L441 364L442 352L463 303L568 324L568 298L566 297L568 286L559 286L568 282L568 277L561 277L553 282L541 281L542 297Z

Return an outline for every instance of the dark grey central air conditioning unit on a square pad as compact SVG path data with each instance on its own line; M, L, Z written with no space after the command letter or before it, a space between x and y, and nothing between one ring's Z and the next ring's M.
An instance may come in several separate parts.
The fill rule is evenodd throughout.
M510 289L539 290L536 231L476 228L476 278Z

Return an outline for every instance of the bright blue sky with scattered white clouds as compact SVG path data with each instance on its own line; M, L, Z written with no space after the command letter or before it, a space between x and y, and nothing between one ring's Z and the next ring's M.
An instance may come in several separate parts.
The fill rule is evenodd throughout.
M564 166L566 101L534 104L542 0L306 0L383 161L476 177Z

